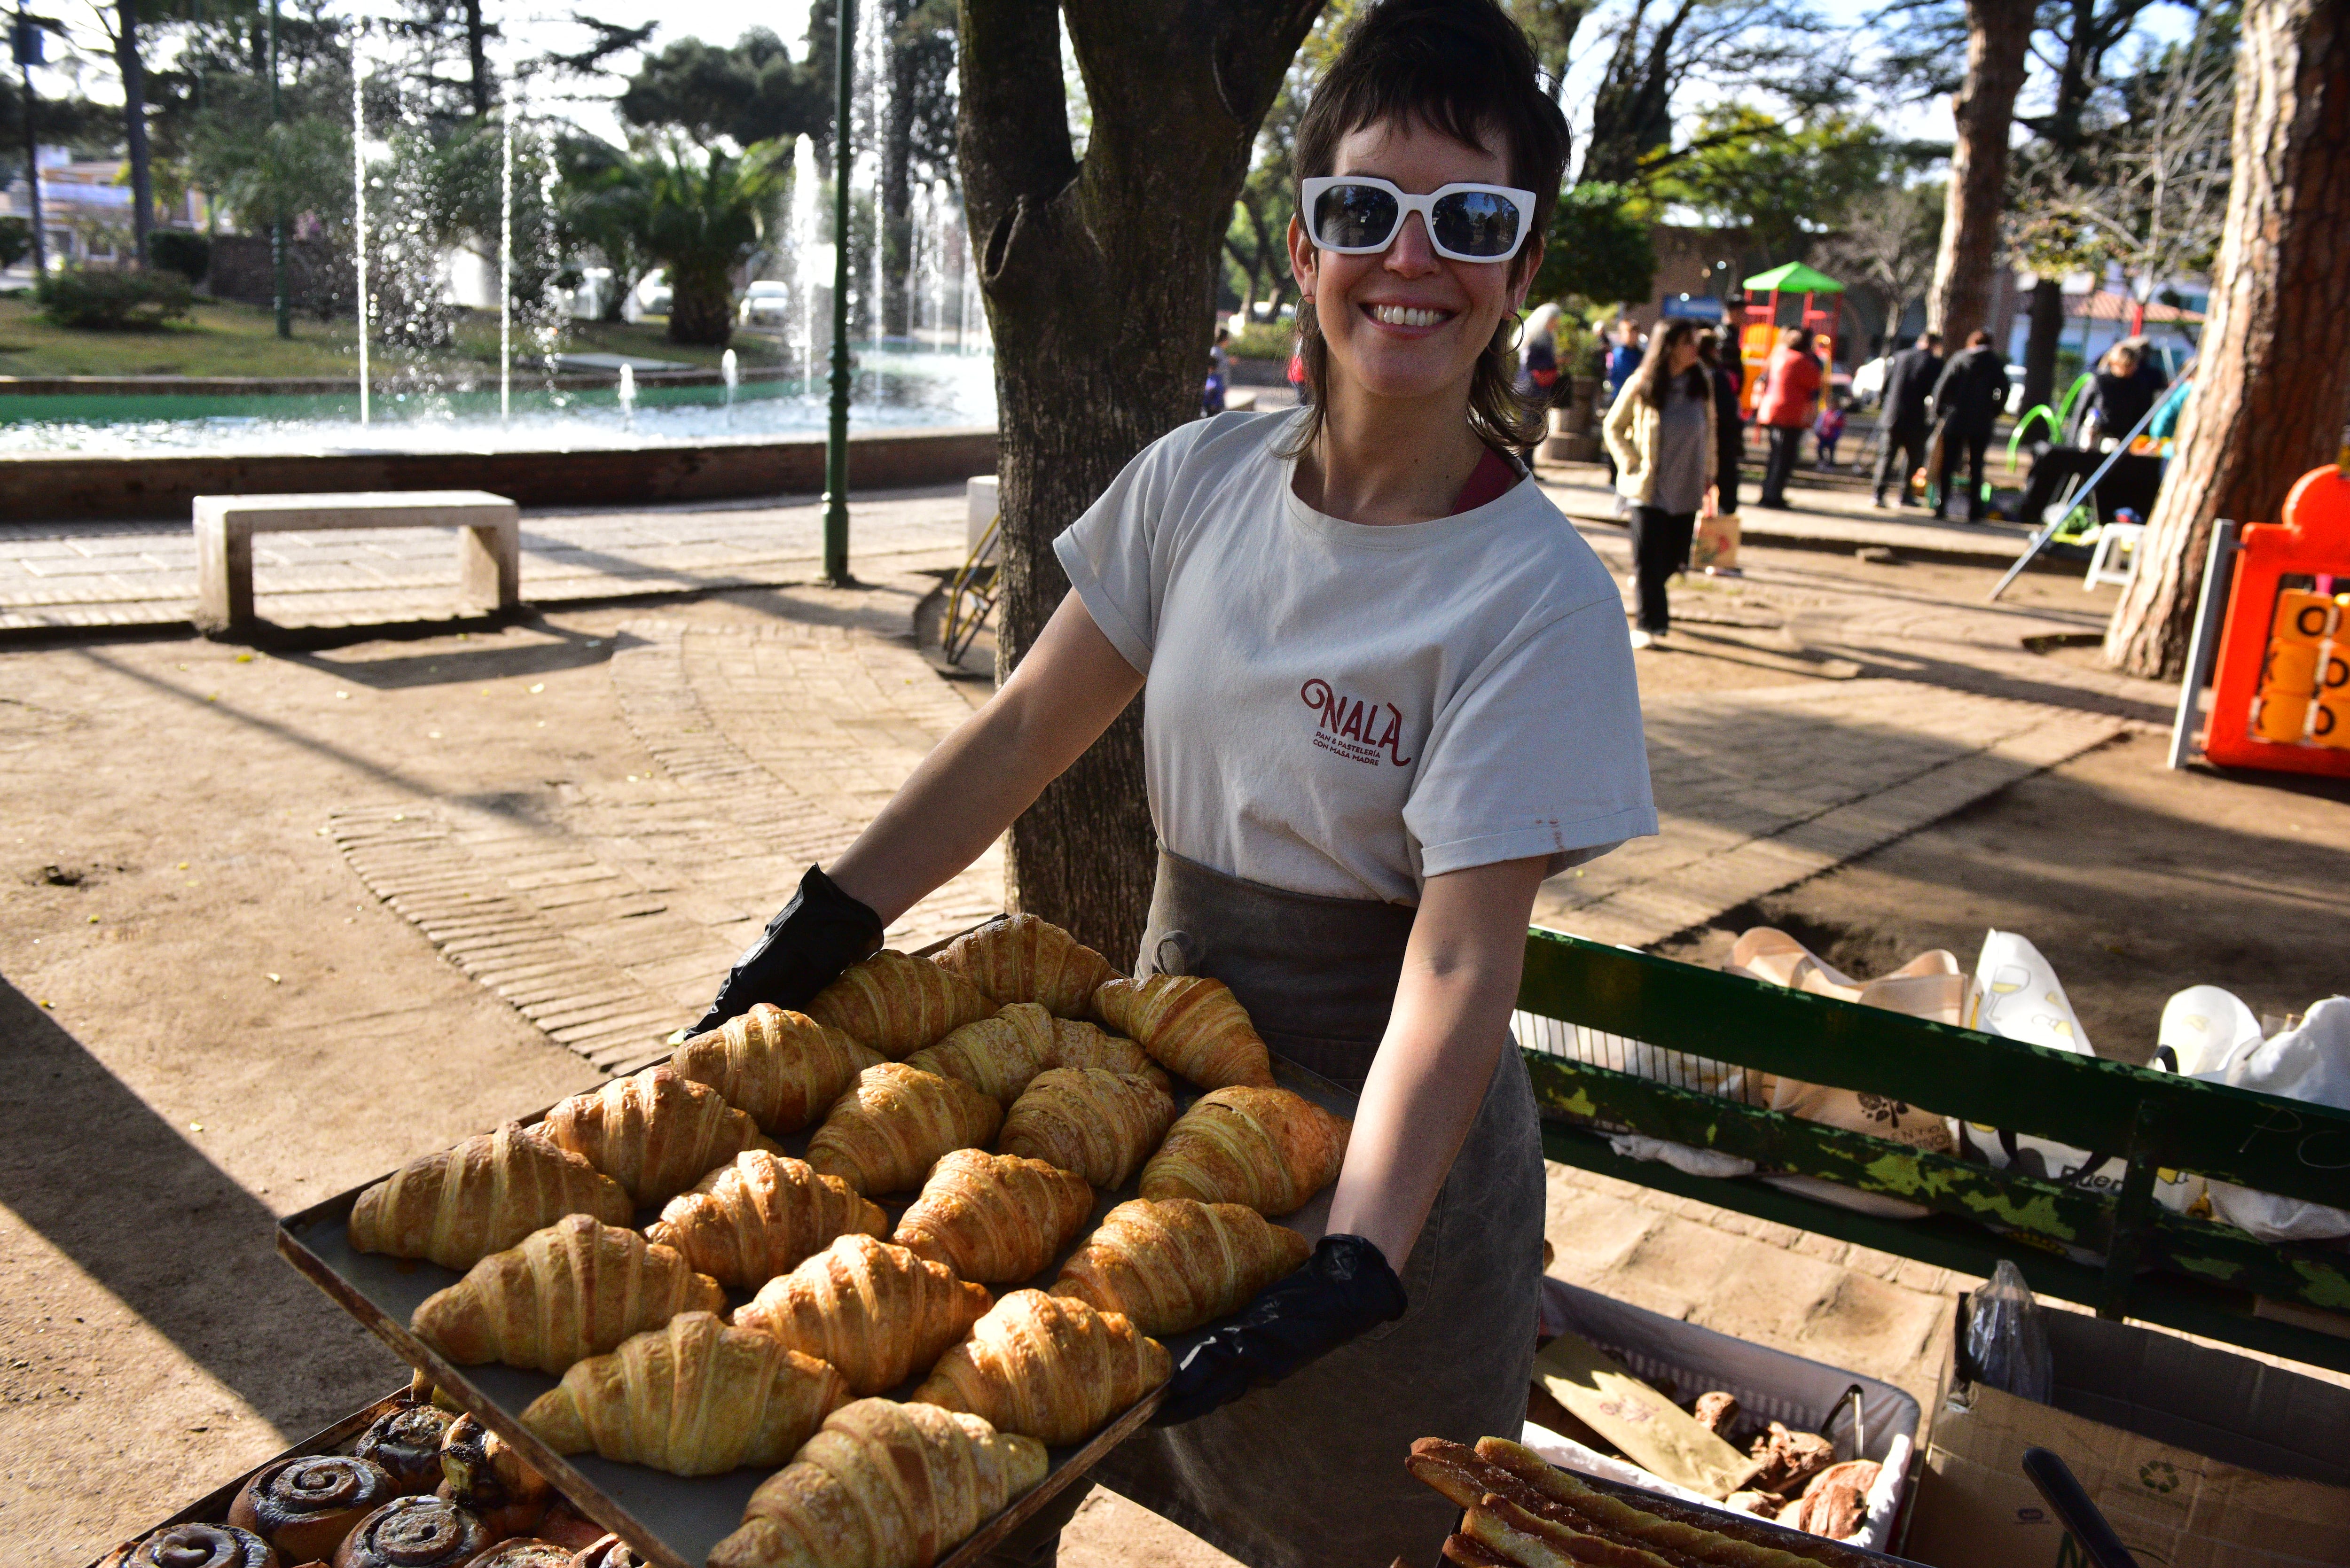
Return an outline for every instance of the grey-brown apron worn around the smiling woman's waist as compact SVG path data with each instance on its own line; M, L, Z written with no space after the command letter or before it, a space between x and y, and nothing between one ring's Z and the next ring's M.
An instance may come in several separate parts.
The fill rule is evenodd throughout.
M1285 893L1161 851L1135 971L1222 980L1276 1056L1361 1091L1412 914ZM1525 1422L1542 1208L1535 1091L1506 1048L1403 1269L1403 1319L1213 1415L1142 1429L1093 1479L1250 1568L1434 1563L1459 1509L1403 1460L1412 1439L1473 1443ZM1065 1507L1022 1530L1013 1561L1053 1561L1050 1537L1083 1490L1055 1497Z

